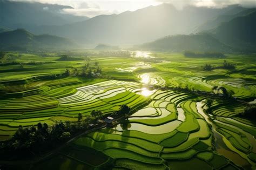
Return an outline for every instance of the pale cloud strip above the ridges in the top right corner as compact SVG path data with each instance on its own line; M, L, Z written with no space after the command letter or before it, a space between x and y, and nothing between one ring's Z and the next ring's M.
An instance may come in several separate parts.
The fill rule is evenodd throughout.
M186 5L207 6L212 8L223 8L227 5L239 4L245 7L255 7L256 1L246 0L156 0L162 3L170 3L178 9L182 9Z

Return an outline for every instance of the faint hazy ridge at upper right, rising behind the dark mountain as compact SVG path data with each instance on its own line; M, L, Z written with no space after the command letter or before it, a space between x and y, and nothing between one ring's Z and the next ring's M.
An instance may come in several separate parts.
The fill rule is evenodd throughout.
M255 11L255 8L252 9L244 9L240 6L237 6L236 8L237 10L232 11L232 12L225 12L224 15L220 15L214 19L211 19L207 22L205 22L204 24L199 25L194 32L202 32L202 31L208 31L208 30L212 30L213 28L216 28L217 26L219 26L221 23L223 22L229 22L232 19L236 18L236 17L241 17L241 16L246 16L249 13Z

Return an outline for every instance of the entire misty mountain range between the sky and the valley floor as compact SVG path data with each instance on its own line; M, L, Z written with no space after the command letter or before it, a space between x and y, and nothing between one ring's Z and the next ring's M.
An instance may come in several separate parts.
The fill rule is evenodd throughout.
M46 42L55 37L52 39L63 39L64 44L73 40L84 47L97 44L142 44L136 47L161 51L254 52L256 49L255 8L230 5L217 9L188 5L183 9L176 9L173 5L164 3L119 15L93 18L61 12L70 8L72 7L64 5L0 0L0 33L24 28L29 31L26 31L27 36L32 35L31 42L36 42L25 43L30 44L28 46L42 42L35 35L44 35L45 38L47 34L58 37L45 38ZM4 38L8 39L7 36ZM61 44L58 40L56 42L56 45Z

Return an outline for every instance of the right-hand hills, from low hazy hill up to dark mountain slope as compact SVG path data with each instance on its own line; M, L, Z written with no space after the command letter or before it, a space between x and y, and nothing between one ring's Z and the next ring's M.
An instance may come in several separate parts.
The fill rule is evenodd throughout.
M256 52L256 10L250 11L245 16L235 17L209 31L166 36L137 47L144 50L176 52Z

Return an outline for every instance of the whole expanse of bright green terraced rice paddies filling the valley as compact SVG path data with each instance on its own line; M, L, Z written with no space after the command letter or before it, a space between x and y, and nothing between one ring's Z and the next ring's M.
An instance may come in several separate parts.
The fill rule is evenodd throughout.
M218 65L223 59L167 53L151 56L160 60L155 63L140 58L149 55L138 53L130 62L95 57L103 63L102 78L38 75L6 80L0 73L1 139L19 125L77 121L78 113L100 110L108 115L127 105L127 120L73 140L32 169L255 169L256 124L239 116L255 100L255 74L246 74L255 61L245 57L241 64L238 57L228 56L237 62L237 71L206 72L201 69L205 62ZM211 92L213 86L233 90L239 100L197 93ZM213 104L206 113L203 102L210 98Z

